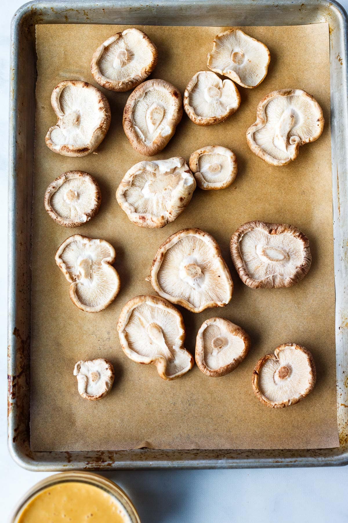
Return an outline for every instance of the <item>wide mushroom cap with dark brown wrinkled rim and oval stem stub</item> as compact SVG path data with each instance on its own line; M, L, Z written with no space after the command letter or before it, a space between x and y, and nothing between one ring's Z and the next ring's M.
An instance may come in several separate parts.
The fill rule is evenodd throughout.
M253 289L291 287L309 271L309 240L292 225L253 221L231 238L239 278Z

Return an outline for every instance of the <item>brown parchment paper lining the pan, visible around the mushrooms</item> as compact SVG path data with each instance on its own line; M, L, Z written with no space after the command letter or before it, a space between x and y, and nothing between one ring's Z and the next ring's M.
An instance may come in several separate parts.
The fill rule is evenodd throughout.
M137 447L173 449L320 448L339 445L336 414L332 190L330 155L330 73L328 24L298 27L250 27L265 42L271 63L255 89L238 87L242 104L224 123L198 127L184 113L169 145L157 158L189 155L204 145L230 147L238 175L228 189L196 189L184 213L159 230L140 229L118 206L115 191L127 169L144 157L130 146L122 129L128 93L105 91L112 122L97 154L66 158L45 145L56 122L50 97L63 79L94 83L93 51L126 26L37 26L38 82L33 198L33 290L31 339L31 447L34 450L115 450ZM189 79L207 69L207 52L224 27L140 27L159 49L151 77L163 78L184 94ZM97 86L98 87L98 86ZM280 88L313 94L325 116L325 129L313 144L301 147L295 162L271 167L257 158L245 132L256 120L261 98ZM85 170L102 190L99 214L78 229L59 226L45 212L46 187L65 170ZM289 289L253 290L239 280L229 254L231 234L248 220L291 223L306 233L313 255L306 278ZM250 334L246 360L223 378L209 378L197 366L175 381L163 381L154 366L129 360L119 345L116 324L128 299L154 294L152 258L166 238L183 228L199 227L221 246L234 281L225 308L201 314L182 310L186 347L192 353L201 323L220 315ZM121 292L105 311L88 314L69 299L69 283L55 265L57 247L71 234L104 238L116 249ZM317 385L303 402L282 410L259 403L251 390L256 361L284 342L307 347L317 365ZM115 367L112 392L88 402L73 376L80 359L105 357Z

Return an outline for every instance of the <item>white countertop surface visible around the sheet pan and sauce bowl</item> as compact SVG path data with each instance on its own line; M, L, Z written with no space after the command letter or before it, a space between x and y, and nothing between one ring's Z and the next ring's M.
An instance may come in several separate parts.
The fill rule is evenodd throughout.
M47 2L49 3L49 2ZM348 0L341 0L348 10ZM2 0L0 20L0 191L7 195L10 19L21 0ZM4 196L5 200L5 196ZM7 206L0 206L7 223ZM18 499L49 473L28 472L6 445L7 233L0 229L0 507L7 521ZM348 467L317 469L142 471L105 473L129 494L142 523L345 523Z

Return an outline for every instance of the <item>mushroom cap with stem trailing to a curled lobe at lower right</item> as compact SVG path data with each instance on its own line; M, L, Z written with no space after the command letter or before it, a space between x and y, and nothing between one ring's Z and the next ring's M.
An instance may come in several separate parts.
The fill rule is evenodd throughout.
M117 323L119 341L126 356L137 363L154 363L161 378L175 380L194 366L184 348L182 315L158 296L129 300Z

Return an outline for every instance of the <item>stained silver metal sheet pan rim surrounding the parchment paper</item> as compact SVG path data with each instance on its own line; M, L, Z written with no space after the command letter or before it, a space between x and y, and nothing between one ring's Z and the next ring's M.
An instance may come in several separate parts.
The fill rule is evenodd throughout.
M337 412L340 447L308 450L151 450L33 452L30 450L31 202L35 118L36 24L275 26L329 22L331 147L335 267ZM70 0L30 2L11 26L9 143L8 444L29 470L247 468L348 463L348 96L344 9L309 0ZM309 51L309 50L308 50Z

